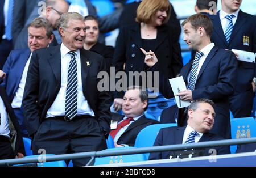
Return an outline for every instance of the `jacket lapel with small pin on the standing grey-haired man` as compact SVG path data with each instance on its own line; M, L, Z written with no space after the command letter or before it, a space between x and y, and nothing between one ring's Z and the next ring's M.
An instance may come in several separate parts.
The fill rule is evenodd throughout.
M81 61L81 79L82 79L82 90L85 95L86 79L89 73L90 66L93 64L93 60L89 57L88 51L80 49L80 61Z

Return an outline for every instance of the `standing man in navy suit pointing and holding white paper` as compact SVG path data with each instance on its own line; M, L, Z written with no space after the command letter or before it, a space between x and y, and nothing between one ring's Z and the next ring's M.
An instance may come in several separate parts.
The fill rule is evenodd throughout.
M184 20L184 41L190 49L197 50L196 58L181 71L188 90L181 91L181 100L207 98L216 104L216 120L212 132L230 138L228 97L234 92L237 61L233 52L218 49L211 43L212 22L208 16L195 14ZM150 70L158 68L158 62ZM157 69L156 69L157 71ZM173 95L170 83L159 73L159 90L166 98ZM178 125L186 125L184 109L179 109Z

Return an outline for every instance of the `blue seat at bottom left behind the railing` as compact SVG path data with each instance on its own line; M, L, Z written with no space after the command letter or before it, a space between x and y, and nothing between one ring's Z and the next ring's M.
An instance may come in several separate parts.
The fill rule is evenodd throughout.
M45 159L45 158L47 159L47 156L52 156L52 154L31 155L31 156L26 156L24 158L38 157L38 160L42 160L42 159ZM38 162L38 163L28 163L28 164L15 164L14 166L22 166L22 167L67 167L67 164L64 162L64 160L58 160L58 161L53 161L53 162Z

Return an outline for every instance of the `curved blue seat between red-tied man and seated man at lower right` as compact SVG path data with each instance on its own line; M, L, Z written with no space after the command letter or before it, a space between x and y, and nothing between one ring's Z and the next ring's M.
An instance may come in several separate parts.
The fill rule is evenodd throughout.
M151 147L154 145L156 136L161 128L167 128L177 126L176 123L168 123L168 124L154 124L149 125L146 128L142 129L141 132L136 137L134 147ZM150 153L144 154L148 159Z

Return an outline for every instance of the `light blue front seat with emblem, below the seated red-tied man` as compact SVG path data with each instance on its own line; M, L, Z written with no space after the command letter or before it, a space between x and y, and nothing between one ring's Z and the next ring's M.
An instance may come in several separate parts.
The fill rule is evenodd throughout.
M117 148L112 148L112 149L106 149L103 151L134 149L134 148L135 147L117 147ZM145 160L147 160L147 159L144 154L106 156L106 157L95 158L94 165L129 163L129 162L139 162L139 161L145 161Z

